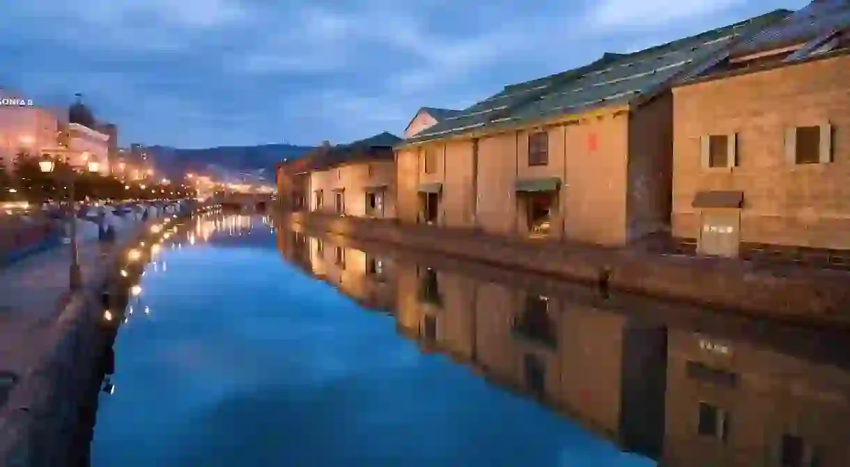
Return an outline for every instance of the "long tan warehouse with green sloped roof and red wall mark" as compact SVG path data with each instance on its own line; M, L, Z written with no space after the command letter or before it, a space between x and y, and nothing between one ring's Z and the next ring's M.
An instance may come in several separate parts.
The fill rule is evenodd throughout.
M791 12L513 84L397 148L404 222L624 245L670 224L670 87Z

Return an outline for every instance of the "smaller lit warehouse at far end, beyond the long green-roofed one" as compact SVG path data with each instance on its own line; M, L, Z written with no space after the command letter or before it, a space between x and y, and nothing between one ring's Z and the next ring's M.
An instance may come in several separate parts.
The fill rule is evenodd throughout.
M293 209L395 217L393 146L400 141L382 132L354 143L322 143L303 157L278 166L278 194Z

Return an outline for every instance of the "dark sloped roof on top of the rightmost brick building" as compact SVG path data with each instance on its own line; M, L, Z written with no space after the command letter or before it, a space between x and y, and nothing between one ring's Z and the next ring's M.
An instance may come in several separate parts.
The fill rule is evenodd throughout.
M733 56L758 53L800 42L809 42L836 28L850 25L850 1L813 0L785 20L769 26L753 40L732 49Z

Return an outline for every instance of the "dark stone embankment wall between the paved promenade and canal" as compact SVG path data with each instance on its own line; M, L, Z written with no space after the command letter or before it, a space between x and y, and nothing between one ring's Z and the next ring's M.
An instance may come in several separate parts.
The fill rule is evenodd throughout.
M104 358L116 333L115 325L105 325L104 293L111 295L111 309L126 306L127 283L118 273L127 250L147 238L151 224L160 222L150 219L116 245L49 324L47 352L20 376L0 407L3 467L88 465Z

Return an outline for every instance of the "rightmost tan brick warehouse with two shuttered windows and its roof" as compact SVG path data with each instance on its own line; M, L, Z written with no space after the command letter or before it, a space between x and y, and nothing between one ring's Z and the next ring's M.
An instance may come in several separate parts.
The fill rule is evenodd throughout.
M848 31L850 2L813 2L674 89L674 235L723 256L850 248Z

